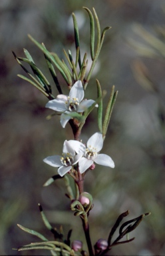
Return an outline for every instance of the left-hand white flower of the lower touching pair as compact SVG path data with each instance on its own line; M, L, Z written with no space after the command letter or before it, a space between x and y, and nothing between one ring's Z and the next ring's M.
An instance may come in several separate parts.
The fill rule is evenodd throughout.
M82 155L82 153L76 155L75 150L71 147L69 142L65 141L62 156L52 155L51 157L46 157L43 161L53 167L59 167L58 173L63 177L66 173L71 171L71 168L75 163L79 162Z

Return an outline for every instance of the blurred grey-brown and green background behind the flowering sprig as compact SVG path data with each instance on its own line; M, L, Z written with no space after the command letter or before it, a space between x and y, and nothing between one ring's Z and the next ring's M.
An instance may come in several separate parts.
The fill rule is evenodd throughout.
M47 255L47 251L17 252L12 248L39 241L17 227L17 223L53 236L44 226L37 204L41 203L51 224L63 225L64 234L73 228L71 239L84 235L81 220L69 210L63 181L43 184L57 170L43 163L48 155L59 155L69 125L61 129L59 117L47 120L47 98L17 74L23 70L11 51L24 57L27 49L37 66L57 89L45 58L29 40L31 34L49 51L64 57L63 48L74 49L71 13L80 28L81 48L89 52L89 19L83 6L94 7L106 32L86 97L96 97L97 78L107 91L119 91L102 153L112 157L115 169L97 166L86 174L85 190L94 198L90 213L92 243L106 239L120 213L130 210L126 220L151 212L135 231L136 237L118 245L110 255L165 255L165 3L163 0L1 0L1 199L0 255ZM90 58L90 55L88 55ZM59 80L66 88L61 77ZM65 89L64 89L65 91ZM84 141L98 131L94 111L83 129Z

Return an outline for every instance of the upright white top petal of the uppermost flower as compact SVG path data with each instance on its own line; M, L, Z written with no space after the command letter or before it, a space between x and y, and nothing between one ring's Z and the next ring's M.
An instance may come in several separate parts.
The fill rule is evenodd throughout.
M73 87L71 88L71 91L69 92L69 97L77 98L79 99L79 102L81 102L84 99L84 89L81 81L77 81Z

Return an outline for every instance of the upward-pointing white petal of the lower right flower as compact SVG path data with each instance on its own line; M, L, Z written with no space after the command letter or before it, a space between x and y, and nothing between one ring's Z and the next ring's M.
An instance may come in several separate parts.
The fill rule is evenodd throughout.
M96 148L96 152L100 151L103 146L103 139L102 139L102 133L94 133L88 141L87 141L87 147L92 146Z

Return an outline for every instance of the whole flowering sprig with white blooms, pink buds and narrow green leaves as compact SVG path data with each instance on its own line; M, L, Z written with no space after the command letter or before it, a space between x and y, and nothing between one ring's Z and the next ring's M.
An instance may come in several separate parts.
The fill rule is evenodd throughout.
M77 26L77 20L75 15L73 14L73 24L75 31L75 46L76 46L76 59L73 61L73 56L71 51L64 51L65 57L67 58L67 63L59 59L56 53L51 53L47 50L45 45L42 43L38 43L31 35L29 38L45 55L45 59L55 81L55 85L59 91L59 95L55 97L52 94L51 85L49 81L43 75L41 70L35 65L33 58L30 53L25 49L25 58L17 57L15 53L15 59L24 69L24 71L29 75L30 79L19 75L22 79L28 81L41 93L43 93L48 99L48 103L46 105L47 108L53 109L55 111L55 115L61 115L60 122L63 128L66 127L67 123L71 125L74 139L69 141L65 140L63 143L63 153L61 155L52 155L43 159L45 163L51 165L52 167L57 168L56 171L58 174L55 174L48 181L45 182L45 186L50 185L53 181L57 179L63 179L67 188L67 196L71 200L71 211L74 212L75 216L79 216L83 223L83 231L86 237L86 245L88 247L88 252L83 249L83 242L78 240L71 241L71 231L69 231L67 238L63 237L63 233L61 231L57 231L57 229L53 228L49 223L45 213L43 212L43 208L39 205L39 210L41 212L41 216L43 218L43 222L46 227L53 233L54 239L53 241L48 241L48 239L42 235L41 233L28 229L19 225L23 231L27 233L31 233L41 239L41 242L31 243L29 245L23 245L19 247L19 251L30 250L30 249L47 249L51 253L51 255L107 255L108 251L114 246L120 243L128 243L134 239L125 239L120 241L125 235L134 230L140 221L142 221L143 217L148 215L149 213L140 215L134 219L126 221L120 225L122 219L126 217L129 211L121 213L121 215L116 219L116 222L112 226L107 239L102 239L98 237L98 241L96 241L95 245L92 245L90 239L90 231L89 231L89 223L88 216L90 211L94 209L94 205L92 203L92 195L90 193L84 191L84 180L87 171L93 170L96 165L104 165L106 167L114 168L114 161L110 156L100 153L102 150L104 139L106 138L106 131L108 128L108 124L110 122L110 117L112 114L112 109L114 107L114 103L116 101L116 97L118 91L114 91L114 86L112 86L110 97L108 103L106 105L106 111L103 113L102 105L103 105L103 97L102 88L98 79L96 79L97 85L97 98L96 99L84 99L84 93L86 87L90 81L90 77L92 75L92 71L94 66L96 65L96 61L98 59L98 55L100 53L100 49L102 47L102 43L104 41L104 35L110 27L106 27L102 33L100 31L100 23L98 17L96 15L96 11L93 8L93 13L84 7L87 11L89 19L90 19L90 57L92 59L92 63L90 65L90 69L87 73L87 64L88 59L86 53L84 54L83 61L81 61L81 47L79 42L79 28ZM96 21L96 29L97 29L97 41L95 42L95 27L94 21ZM96 46L95 46L96 45ZM23 63L28 63L33 71L31 74L23 65ZM63 88L61 87L56 69L61 73L65 83L67 83L67 87L69 90L68 95L63 94ZM81 133L83 126L85 125L86 118L92 112L92 110L96 107L97 109L97 119L98 119L98 128L95 133L89 137L86 144L84 141L81 141ZM104 115L103 115L104 114ZM114 159L115 160L115 159ZM95 165L96 164L96 165ZM117 171L117 170L116 170ZM75 182L75 190L73 192L73 188L69 183L68 175L70 175ZM119 228L119 234L116 239L113 239L114 232Z

